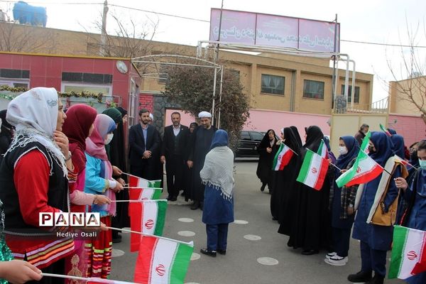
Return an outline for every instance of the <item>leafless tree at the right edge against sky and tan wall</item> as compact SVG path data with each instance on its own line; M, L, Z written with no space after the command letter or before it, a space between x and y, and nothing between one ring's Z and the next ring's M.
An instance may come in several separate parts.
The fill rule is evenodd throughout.
M425 31L425 28L423 28ZM407 38L409 45L400 48L400 67L393 65L393 60L388 59L388 68L395 82L390 83L396 94L397 102L408 103L410 107L420 111L426 124L426 56L417 45L426 38L425 32L420 33L420 26L415 29L407 24ZM405 78L405 79L404 79Z

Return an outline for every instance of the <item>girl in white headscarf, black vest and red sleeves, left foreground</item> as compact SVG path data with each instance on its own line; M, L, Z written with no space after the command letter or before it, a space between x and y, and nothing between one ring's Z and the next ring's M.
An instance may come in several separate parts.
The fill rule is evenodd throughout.
M61 132L67 117L62 107L53 88L30 89L13 99L6 119L16 135L0 166L6 243L13 257L58 274L65 273L64 258L74 251L74 241L58 237L61 228L41 228L39 214L69 212L67 172L73 166ZM44 277L40 282L63 281Z

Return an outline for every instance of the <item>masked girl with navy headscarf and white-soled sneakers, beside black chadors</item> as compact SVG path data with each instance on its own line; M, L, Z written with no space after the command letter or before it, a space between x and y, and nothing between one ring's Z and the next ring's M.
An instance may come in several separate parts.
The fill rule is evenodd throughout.
M332 211L333 252L327 253L324 261L332 266L344 266L348 261L351 228L354 224L354 204L358 186L338 187L335 180L354 165L359 152L358 141L353 136L342 136L339 139L339 158L335 170L333 186L330 188L330 204Z

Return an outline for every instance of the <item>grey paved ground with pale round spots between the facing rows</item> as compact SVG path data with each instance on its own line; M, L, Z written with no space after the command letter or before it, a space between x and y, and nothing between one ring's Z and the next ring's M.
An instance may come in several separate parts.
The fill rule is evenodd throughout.
M324 263L326 251L303 256L301 249L289 248L288 236L278 234L278 223L271 219L271 195L268 195L267 189L260 191L256 166L253 160L237 160L235 163L235 219L238 221L229 225L226 256L218 254L212 258L200 255L200 249L206 246L202 211L190 210L189 203L182 197L177 202L169 202L163 236L194 241L195 244L185 283L349 283L347 275L356 273L361 267L359 242L351 239L349 263L346 266ZM167 197L166 190L163 195ZM180 218L194 221L180 222ZM111 279L132 281L137 253L129 252L130 235L122 236L123 241L113 246ZM403 281L386 280L385 283Z

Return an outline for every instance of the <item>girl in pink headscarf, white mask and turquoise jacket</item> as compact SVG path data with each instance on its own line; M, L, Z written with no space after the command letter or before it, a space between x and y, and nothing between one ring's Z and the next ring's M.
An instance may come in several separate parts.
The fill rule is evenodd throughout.
M109 163L105 145L111 142L112 131L116 124L106 114L98 114L94 120L94 130L86 139L86 180L84 192L107 196L111 204L92 206L92 212L99 212L101 222L111 226L111 216L116 214L115 192L123 190L123 185L112 178L112 166ZM111 273L111 230L101 231L87 244L92 252L89 257L88 277L107 278Z

